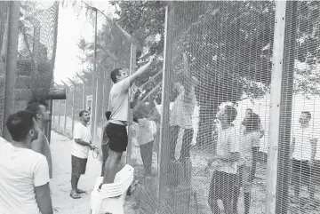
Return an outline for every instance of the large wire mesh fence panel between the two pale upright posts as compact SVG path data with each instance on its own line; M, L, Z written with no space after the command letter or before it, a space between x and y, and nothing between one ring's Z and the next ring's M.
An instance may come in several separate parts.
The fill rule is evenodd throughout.
M173 7L166 201L176 213L265 213L275 4Z

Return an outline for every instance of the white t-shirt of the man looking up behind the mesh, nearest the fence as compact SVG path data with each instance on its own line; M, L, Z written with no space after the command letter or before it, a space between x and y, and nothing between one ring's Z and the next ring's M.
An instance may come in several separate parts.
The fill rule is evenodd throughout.
M231 153L240 152L239 130L235 126L228 129L218 128L217 155L230 155ZM238 162L219 161L218 171L236 174Z

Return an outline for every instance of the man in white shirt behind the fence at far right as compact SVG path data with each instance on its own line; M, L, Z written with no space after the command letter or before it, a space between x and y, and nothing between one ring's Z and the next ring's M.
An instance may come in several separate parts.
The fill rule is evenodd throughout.
M301 184L307 184L310 197L314 197L311 191L311 166L315 161L317 137L309 125L311 114L308 111L301 112L300 127L292 132L292 185L294 186L294 200L299 199ZM312 193L313 192L313 193ZM313 195L312 195L313 194Z

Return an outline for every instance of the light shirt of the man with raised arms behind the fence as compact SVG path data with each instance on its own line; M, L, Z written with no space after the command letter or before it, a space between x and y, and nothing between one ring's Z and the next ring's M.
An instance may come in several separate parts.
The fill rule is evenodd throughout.
M170 125L178 125L183 129L192 129L192 115L196 107L196 93L194 87L185 96L185 90L175 99L172 107Z

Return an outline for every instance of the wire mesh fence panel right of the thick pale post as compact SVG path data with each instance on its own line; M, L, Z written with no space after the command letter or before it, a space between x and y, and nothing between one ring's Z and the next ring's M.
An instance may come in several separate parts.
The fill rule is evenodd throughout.
M292 112L289 113L292 117L291 135L287 135L290 139L290 164L282 163L283 167L289 166L290 173L286 180L289 185L288 213L318 213L320 121L317 115L320 98L317 76L320 4L316 1L301 2L293 4L290 9L291 17L287 18L287 22L292 26L292 34L284 40L284 44L291 43L292 48L287 50L287 54L294 60L287 66L294 71L294 75L286 76L291 88L284 92L286 99L293 91ZM285 131L284 127L281 129ZM285 206L280 209L285 209Z

